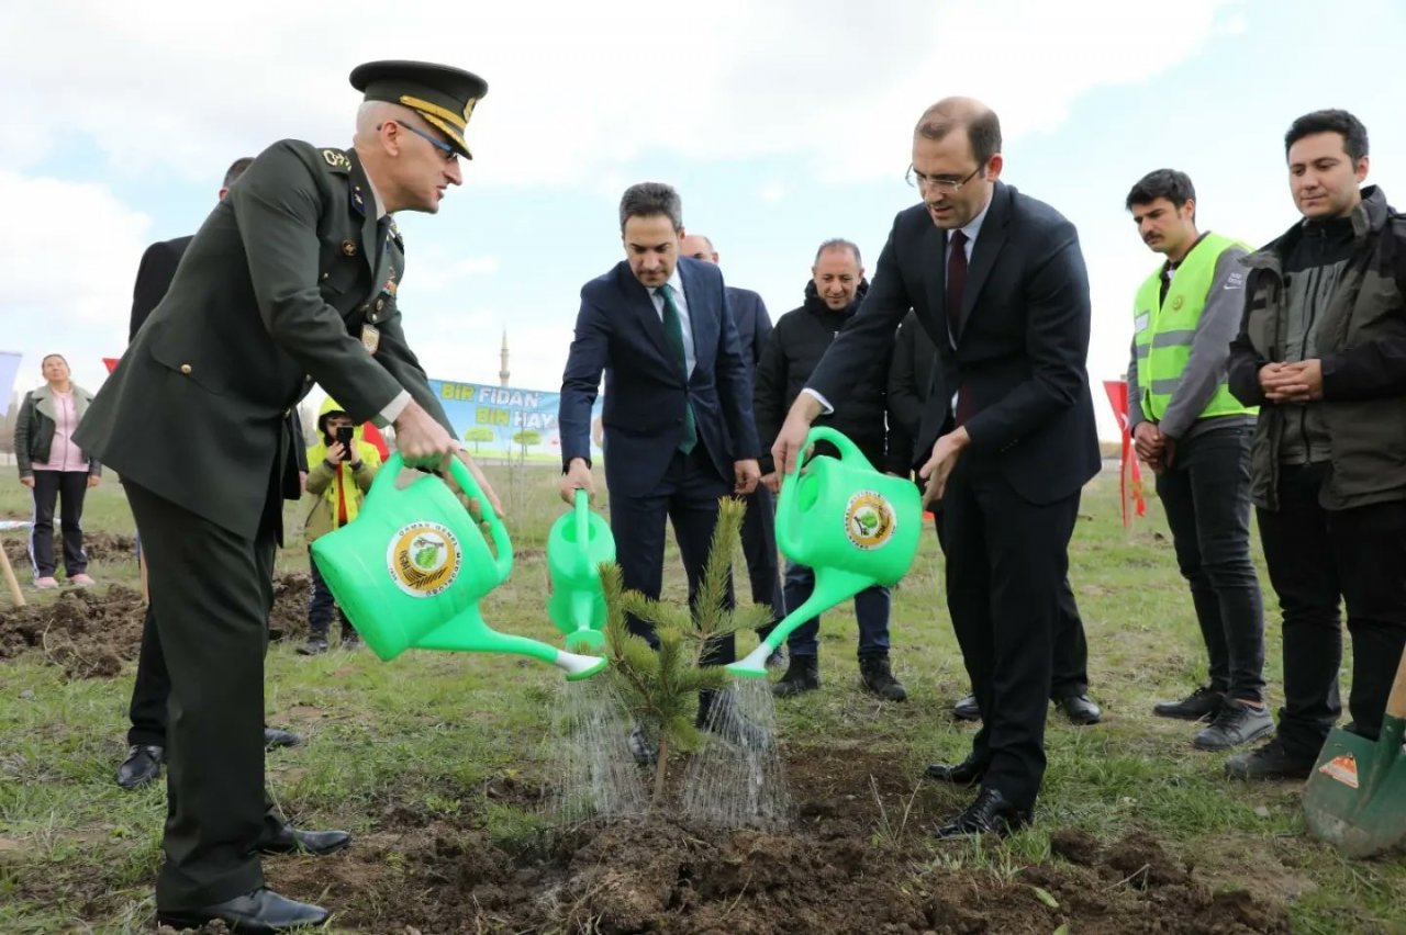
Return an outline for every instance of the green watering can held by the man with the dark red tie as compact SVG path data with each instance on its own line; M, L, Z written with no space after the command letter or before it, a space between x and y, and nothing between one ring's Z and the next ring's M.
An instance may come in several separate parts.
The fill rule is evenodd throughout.
M813 458L801 473L806 451L817 441L838 448L839 458ZM776 545L787 559L814 570L815 590L727 671L765 677L766 657L797 626L868 587L897 584L918 553L921 535L922 497L911 480L875 470L834 428L811 428L796 470L782 479Z

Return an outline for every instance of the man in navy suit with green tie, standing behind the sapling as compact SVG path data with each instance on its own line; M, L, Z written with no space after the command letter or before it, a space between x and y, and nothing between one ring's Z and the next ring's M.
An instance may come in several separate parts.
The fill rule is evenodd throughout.
M561 380L561 497L595 496L591 477L591 406L606 375L602 411L606 489L616 559L626 588L658 598L664 580L664 525L673 522L689 602L697 595L720 497L749 494L761 477L752 424L752 385L738 348L723 274L679 256L683 205L669 185L640 183L620 199L624 261L581 288L576 336ZM728 605L733 601L728 587ZM630 629L657 644L654 629ZM709 665L735 658L733 637L703 656ZM720 695L718 698L725 698ZM714 696L699 699L699 726ZM641 755L638 737L636 755Z

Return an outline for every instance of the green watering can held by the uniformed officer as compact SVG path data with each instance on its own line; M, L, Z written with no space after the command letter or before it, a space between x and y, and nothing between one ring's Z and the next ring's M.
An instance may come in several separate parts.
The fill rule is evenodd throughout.
M385 462L357 518L312 543L312 557L343 612L382 660L408 649L515 653L567 670L567 679L595 675L606 660L564 653L540 640L499 633L478 602L508 578L513 546L468 468L449 459L460 489L478 501L494 552L472 515L439 477L396 487L405 466Z

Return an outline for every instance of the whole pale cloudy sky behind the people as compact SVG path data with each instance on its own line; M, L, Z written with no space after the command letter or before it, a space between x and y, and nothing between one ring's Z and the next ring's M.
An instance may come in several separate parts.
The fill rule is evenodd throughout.
M402 215L405 329L430 376L557 389L581 284L623 257L616 205L672 183L685 223L772 317L815 246L877 260L911 128L970 94L1005 131L1002 178L1080 230L1088 368L1126 366L1132 295L1156 265L1123 211L1152 168L1188 171L1202 229L1263 243L1296 213L1282 136L1310 110L1367 124L1372 173L1406 204L1403 4L986 0L711 4L10 3L0 86L0 350L69 357L90 389L125 343L153 240L191 233L226 166L270 142L347 146L360 62L484 76L475 159L437 216ZM1101 431L1114 421L1095 396Z

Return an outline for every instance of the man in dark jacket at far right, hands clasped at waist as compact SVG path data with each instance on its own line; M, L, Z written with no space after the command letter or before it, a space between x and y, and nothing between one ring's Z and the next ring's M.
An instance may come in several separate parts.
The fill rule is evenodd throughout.
M1406 643L1406 219L1367 180L1367 128L1316 111L1284 138L1303 216L1244 258L1229 385L1260 418L1250 496L1284 611L1278 736L1226 760L1239 779L1306 779L1343 713L1375 738Z

